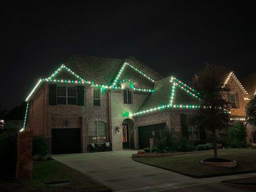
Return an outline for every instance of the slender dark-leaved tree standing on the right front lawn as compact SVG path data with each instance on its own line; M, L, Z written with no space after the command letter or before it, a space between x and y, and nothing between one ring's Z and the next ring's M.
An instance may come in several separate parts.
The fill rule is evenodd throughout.
M224 84L227 72L223 67L206 64L197 74L194 81L195 89L200 93L201 105L191 116L190 122L200 129L212 132L214 158L218 158L216 130L229 125L230 103L225 99L230 86Z

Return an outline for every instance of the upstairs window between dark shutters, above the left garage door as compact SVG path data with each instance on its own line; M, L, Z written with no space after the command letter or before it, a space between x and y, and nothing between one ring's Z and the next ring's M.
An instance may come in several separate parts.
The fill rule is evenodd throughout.
M57 105L76 105L76 87L57 86Z

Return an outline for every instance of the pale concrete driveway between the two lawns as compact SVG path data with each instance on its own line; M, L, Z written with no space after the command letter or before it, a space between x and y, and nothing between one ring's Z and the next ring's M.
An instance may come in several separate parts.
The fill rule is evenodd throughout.
M52 157L118 192L166 192L173 190L181 192L181 189L182 191L211 191L211 189L213 191L219 191L219 189L231 192L237 191L234 190L233 186L218 183L221 180L229 180L232 176L195 179L135 162L131 159L131 155L136 152L135 150L123 150L62 154L53 155ZM239 178L246 177L246 174L243 175ZM251 175L256 176L255 173ZM247 177L251 177L251 175ZM240 192L240 189L237 192Z

